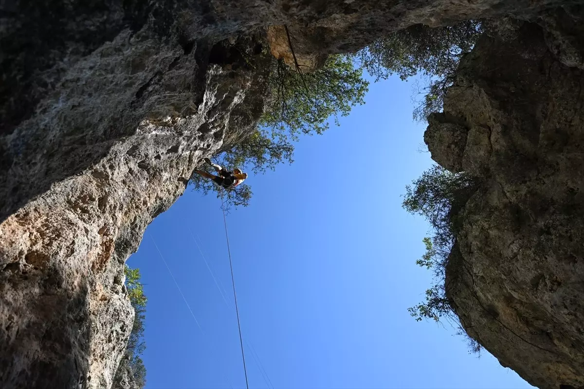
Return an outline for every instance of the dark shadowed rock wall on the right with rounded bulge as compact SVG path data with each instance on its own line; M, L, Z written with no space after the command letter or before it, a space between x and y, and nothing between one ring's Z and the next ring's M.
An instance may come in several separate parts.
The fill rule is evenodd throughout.
M565 29L582 26L568 11ZM482 38L425 139L484 181L447 268L463 327L532 385L584 388L584 36L550 20Z

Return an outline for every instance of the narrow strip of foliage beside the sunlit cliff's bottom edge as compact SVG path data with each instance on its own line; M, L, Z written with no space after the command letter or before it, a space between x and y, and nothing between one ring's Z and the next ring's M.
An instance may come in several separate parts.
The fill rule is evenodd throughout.
M141 389L146 385L146 367L140 355L142 355L146 348L144 342L144 320L146 319L145 312L148 299L144 295L144 286L140 282L140 269L131 269L126 265L125 271L128 297L134 308L134 322L132 323L130 338L128 338L126 345L126 352L117 368L116 379L114 381L119 382L120 374L129 367L138 388Z

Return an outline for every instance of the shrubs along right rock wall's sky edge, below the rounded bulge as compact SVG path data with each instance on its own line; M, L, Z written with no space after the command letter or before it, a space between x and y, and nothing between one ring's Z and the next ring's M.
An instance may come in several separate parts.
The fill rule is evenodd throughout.
M443 167L434 165L418 180L413 181L413 186L406 187L402 203L409 213L424 216L434 232L432 237L422 240L426 251L422 258L416 260L420 267L432 270L434 282L426 290L425 301L408 308L409 313L416 321L430 319L439 322L446 319L449 323L456 324L460 334L467 337L469 345L477 352L480 345L465 334L458 322L446 296L444 279L456 234L461 227L461 211L478 185L477 178L466 173L450 173Z

